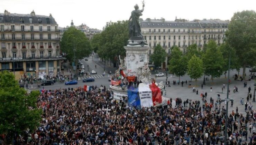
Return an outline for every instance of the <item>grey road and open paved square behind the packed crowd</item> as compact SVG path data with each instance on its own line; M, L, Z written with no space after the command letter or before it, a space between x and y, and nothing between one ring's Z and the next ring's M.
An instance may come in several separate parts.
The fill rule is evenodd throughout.
M78 84L77 85L65 85L64 83L58 83L56 82L54 85L52 86L44 86L45 89L58 89L58 88L75 88L75 87L83 87L83 85L103 85L103 86L109 86L110 85L110 81L108 81L108 78L111 77L112 75L114 75L114 70L115 68L113 67L109 67L109 66L105 66L105 70L111 70L112 71L112 75L108 76L108 73L106 72L106 75L103 77L102 73L104 72L104 63L102 61L99 60L99 57L97 56L97 54L95 54L93 56L93 60L92 60L92 56L86 58L88 59L88 61L85 61L84 59L81 60L81 62L83 63L83 65L85 66L85 71L88 71L88 65L89 65L89 71L91 72L91 70L95 70L97 72L97 74L95 75L90 75L90 77L94 78L95 81L94 82L87 82L87 83L83 83L82 80L85 77L78 77ZM96 65L96 68L95 68ZM241 75L242 72L242 68L240 69L240 74ZM229 112L232 112L232 109L236 109L236 106L238 106L239 110L244 110L245 107L244 105L240 105L240 98L244 98L245 102L246 102L246 97L248 94L248 87L251 86L252 90L252 96L253 96L253 89L254 89L254 80L251 81L246 81L247 82L247 87L244 88L244 81L235 81L234 78L232 78L233 75L238 74L237 71L231 70L230 71L230 95L229 98L233 98L234 99L234 107L230 108L230 103L229 103ZM250 74L249 72L249 68L246 68L246 74L247 74L247 79L248 79L248 75ZM152 78L156 78L155 75L151 76ZM210 78L210 76L205 76ZM227 77L227 75L226 75ZM214 78L213 80L213 84L212 84L212 80L206 81L206 85L203 86L203 89L201 89L201 84L203 83L203 76L201 78L198 79L198 81L196 82L196 89L198 89L198 95L196 95L196 93L193 93L192 88L188 88L189 85L189 81L191 80L190 77L188 75L185 75L183 77L181 77L180 81L184 81L184 85L183 87L180 85L178 85L176 83L176 85L173 85L173 80L178 80L179 77L168 74L168 81L170 81L171 87L166 87L166 98L172 98L173 99L173 105L175 105L175 98L179 97L182 100L184 99L192 99L192 100L201 100L202 98L200 97L201 92L203 91L204 93L207 92L207 101L210 101L210 97L212 97L212 99L216 100L217 95L220 94L220 97L222 99L225 99L227 97L227 78L225 78L225 75L222 75L220 78ZM160 83L161 81L165 84L165 80L166 80L166 74L163 77L157 77L156 78L156 82ZM188 84L185 84L185 81L188 81ZM221 93L221 88L222 85L225 84L225 89L223 90L223 93ZM191 82L192 86L195 86L195 81L192 80ZM238 92L239 93L233 93L233 88L234 86L238 87ZM31 85L29 85L29 89L30 90L39 90L42 89L43 86L41 86L41 88L36 88L36 84L33 85L33 88L31 89ZM210 87L212 87L212 92L210 91ZM244 103L245 103L244 102ZM252 103L252 99L249 100L249 102ZM255 105L255 103L253 103L253 106ZM222 106L224 106L224 104L222 103ZM225 106L226 107L226 106ZM243 112L243 114L245 114L245 112Z

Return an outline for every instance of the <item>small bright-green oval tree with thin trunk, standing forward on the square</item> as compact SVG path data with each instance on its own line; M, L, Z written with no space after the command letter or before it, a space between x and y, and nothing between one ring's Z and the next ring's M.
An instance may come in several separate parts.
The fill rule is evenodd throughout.
M188 62L188 75L195 79L195 86L197 79L203 75L203 61L196 55L192 56Z

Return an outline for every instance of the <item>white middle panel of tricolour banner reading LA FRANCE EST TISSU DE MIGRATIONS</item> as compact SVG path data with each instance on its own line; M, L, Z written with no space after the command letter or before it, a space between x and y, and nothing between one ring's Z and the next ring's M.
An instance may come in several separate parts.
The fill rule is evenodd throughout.
M148 85L144 85L143 83L139 84L139 98L141 107L153 106L152 91Z

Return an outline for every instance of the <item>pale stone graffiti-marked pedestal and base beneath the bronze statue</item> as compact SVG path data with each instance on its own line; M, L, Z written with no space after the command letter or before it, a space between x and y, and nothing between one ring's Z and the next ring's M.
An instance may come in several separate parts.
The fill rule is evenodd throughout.
M137 81L142 81L145 85L151 84L151 74L148 68L148 50L150 47L147 46L145 39L132 37L128 40L128 45L124 47L126 50L126 58L124 62L121 60L120 63L122 70L126 76L136 76ZM161 91L164 91L164 85L156 83ZM127 86L122 88L121 86L112 86L110 89L113 92L113 98L122 100L122 96L127 96ZM163 102L159 105L165 104L164 97Z

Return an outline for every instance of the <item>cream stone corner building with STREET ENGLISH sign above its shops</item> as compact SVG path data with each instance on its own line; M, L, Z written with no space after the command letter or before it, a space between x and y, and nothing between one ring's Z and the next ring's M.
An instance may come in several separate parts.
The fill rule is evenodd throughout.
M0 13L0 71L21 76L56 76L64 60L58 24L50 16Z

